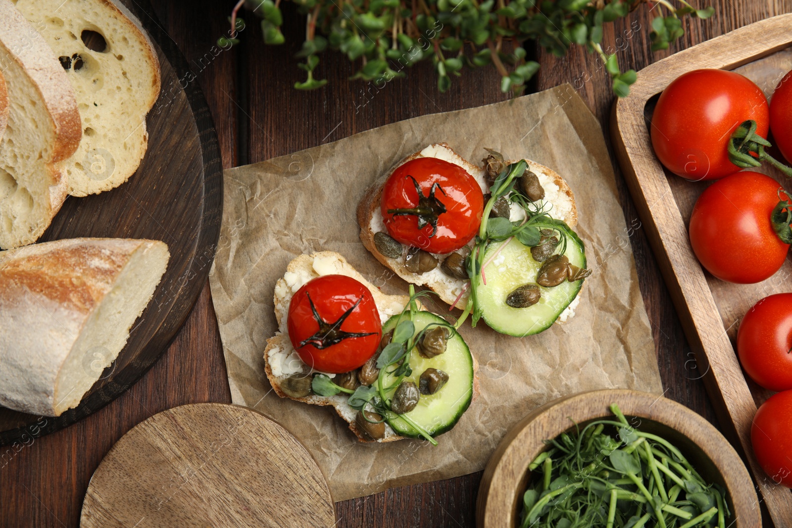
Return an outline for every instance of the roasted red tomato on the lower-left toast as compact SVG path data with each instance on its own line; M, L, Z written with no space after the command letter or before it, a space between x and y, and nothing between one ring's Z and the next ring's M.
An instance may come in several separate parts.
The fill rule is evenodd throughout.
M334 374L362 367L383 336L371 291L345 275L305 283L289 303L287 329L300 359Z

